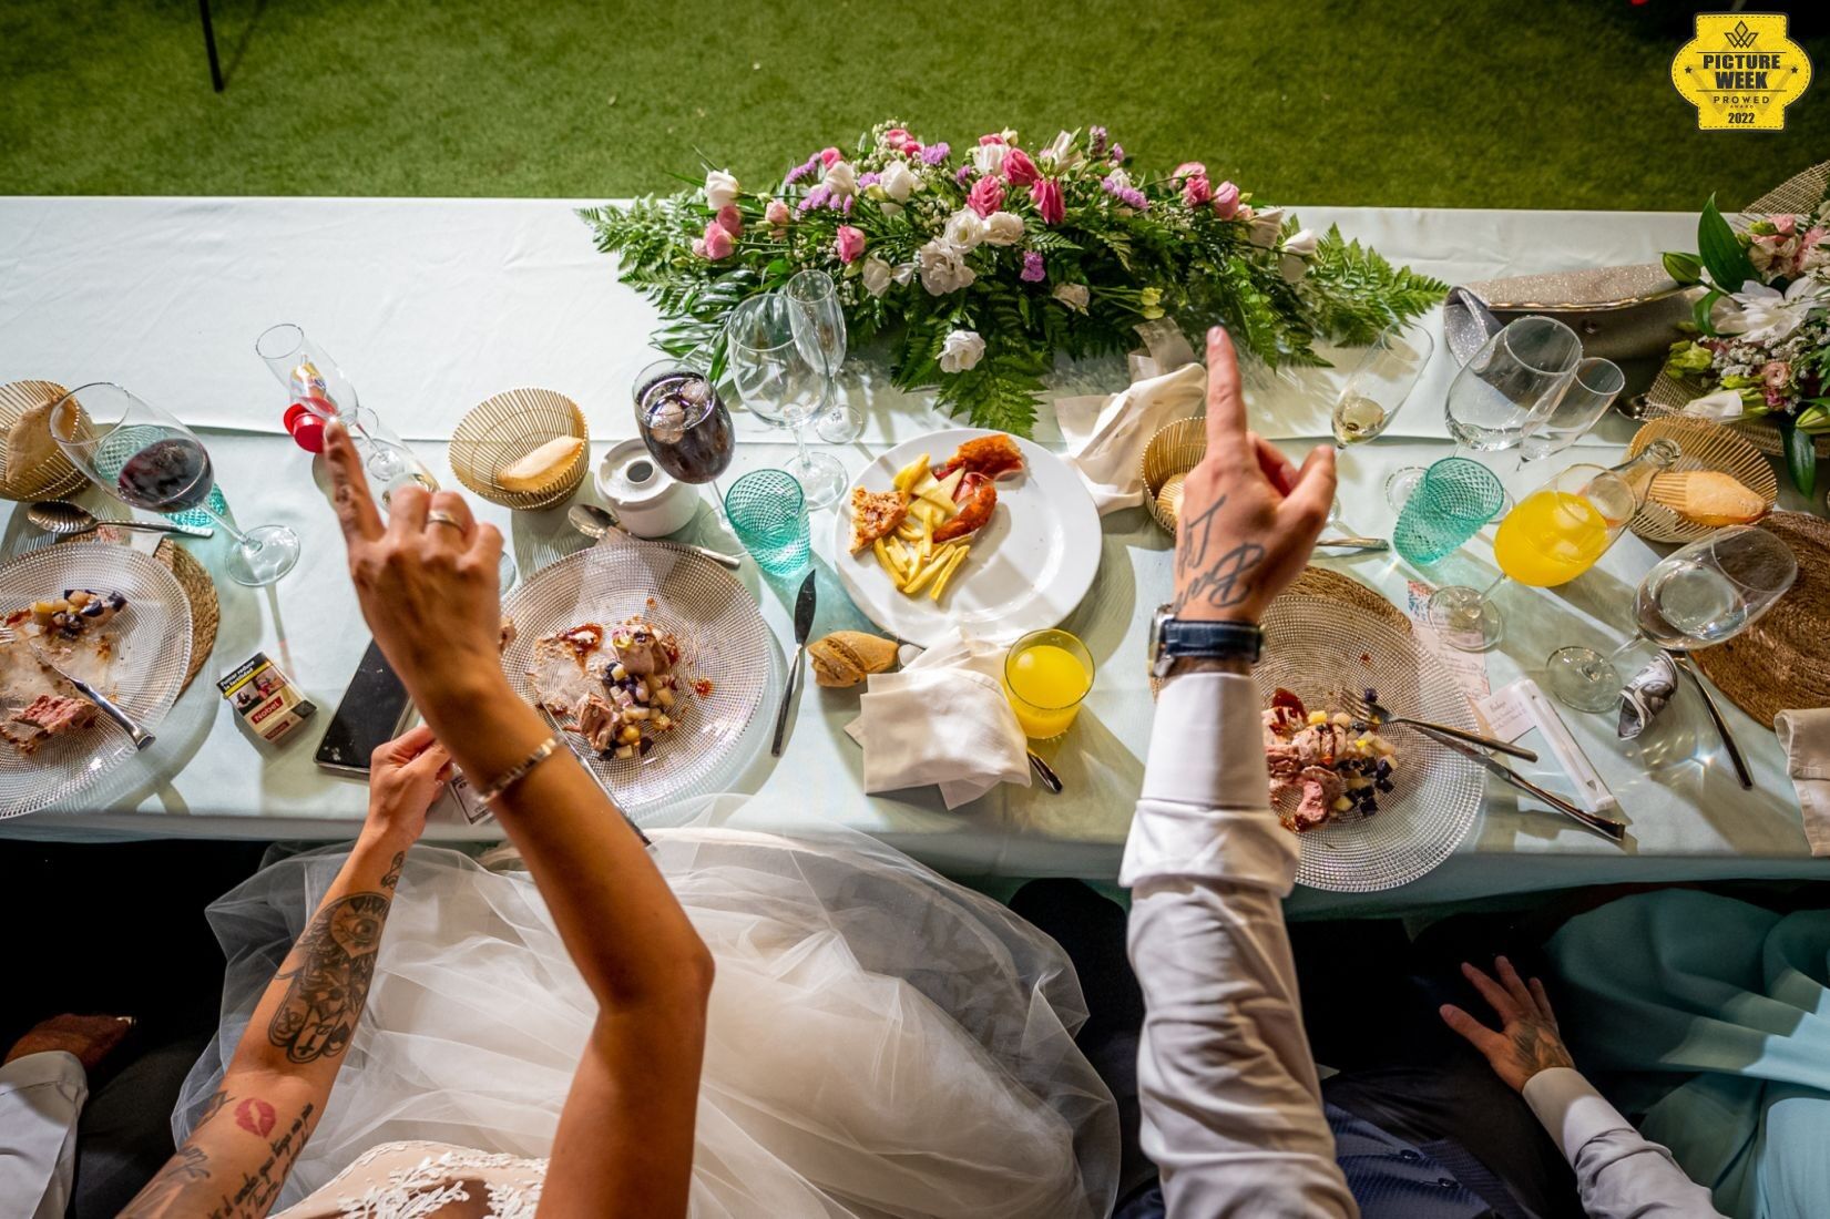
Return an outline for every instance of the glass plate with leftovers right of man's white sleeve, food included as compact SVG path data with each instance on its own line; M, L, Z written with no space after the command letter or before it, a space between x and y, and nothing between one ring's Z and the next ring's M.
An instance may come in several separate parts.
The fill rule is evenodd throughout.
M1407 727L1358 719L1347 694L1473 732L1460 685L1362 606L1286 593L1263 626L1265 763L1272 809L1301 840L1297 884L1369 893L1429 873L1475 824L1486 772Z

